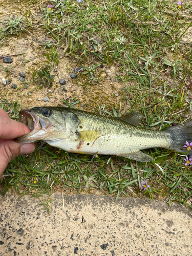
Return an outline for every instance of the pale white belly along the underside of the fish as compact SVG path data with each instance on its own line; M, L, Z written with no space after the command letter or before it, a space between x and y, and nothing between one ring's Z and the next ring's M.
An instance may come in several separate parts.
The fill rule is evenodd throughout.
M101 135L94 141L79 140L74 134L59 141L46 141L48 144L64 151L80 154L124 155L134 153L144 148L166 147L167 138L145 138L126 135Z

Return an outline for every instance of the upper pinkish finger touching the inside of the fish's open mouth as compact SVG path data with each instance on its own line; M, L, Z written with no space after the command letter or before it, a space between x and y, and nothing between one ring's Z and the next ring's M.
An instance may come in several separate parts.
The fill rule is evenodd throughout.
M1 139L15 139L30 132L31 130L24 123L17 122L9 117L0 115Z

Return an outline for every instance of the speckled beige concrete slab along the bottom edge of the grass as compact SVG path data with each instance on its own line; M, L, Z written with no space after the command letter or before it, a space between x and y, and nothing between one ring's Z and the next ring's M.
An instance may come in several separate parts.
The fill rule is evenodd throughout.
M192 212L178 204L53 194L0 195L0 255L192 255Z

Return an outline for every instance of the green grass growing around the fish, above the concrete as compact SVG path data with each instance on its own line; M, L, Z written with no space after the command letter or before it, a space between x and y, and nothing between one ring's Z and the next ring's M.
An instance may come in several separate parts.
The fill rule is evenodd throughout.
M32 4L37 5L39 1ZM106 77L112 79L101 77L102 71L98 69L101 63L118 66L113 79L123 84L121 101L113 100L110 104L104 100L99 106L90 103L97 113L117 116L129 104L129 111L145 116L141 126L153 130L190 120L191 43L182 40L192 24L190 14L182 13L181 8L178 16L177 4L169 1L97 1L95 4L86 0L82 3L55 0L49 4L55 6L51 12L45 5L40 6L39 28L52 40L41 42L47 62L44 73L42 69L31 72L30 82L36 84L35 90L51 87L51 71L62 53L69 60L78 60L84 68L78 75L78 83L83 84L84 90L100 84ZM190 9L189 3L184 7ZM29 13L24 20L19 19L22 13L11 19L3 17L2 42L23 33L23 28L35 35L34 23L38 22ZM75 106L79 107L79 103ZM1 106L6 111L12 108L10 116L17 120L22 105L5 102ZM6 169L5 193L11 187L21 195L41 198L48 207L50 199L40 196L50 196L56 187L88 194L98 188L116 199L148 197L166 199L168 204L176 200L191 207L192 173L184 166L184 156L159 148L143 152L153 157L151 163L114 156L92 160L92 156L63 152L37 142L34 154L14 159ZM140 190L141 180L151 185L145 192Z

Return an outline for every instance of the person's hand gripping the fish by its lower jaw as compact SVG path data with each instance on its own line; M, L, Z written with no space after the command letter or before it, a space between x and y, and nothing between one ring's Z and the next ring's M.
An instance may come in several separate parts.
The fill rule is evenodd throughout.
M15 157L30 154L35 150L34 143L17 143L13 139L31 132L24 123L12 120L9 115L0 108L0 178L8 163Z

